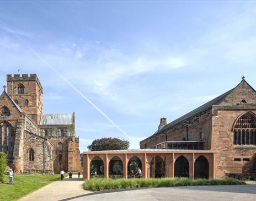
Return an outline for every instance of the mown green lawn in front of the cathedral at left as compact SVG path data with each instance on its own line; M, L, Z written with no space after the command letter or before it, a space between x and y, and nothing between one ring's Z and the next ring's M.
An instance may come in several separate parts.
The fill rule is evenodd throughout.
M17 200L26 194L46 186L47 184L60 179L60 175L23 174L14 175L14 183L8 184L9 177L6 176L6 183L0 183L0 200ZM36 201L36 200L35 200Z

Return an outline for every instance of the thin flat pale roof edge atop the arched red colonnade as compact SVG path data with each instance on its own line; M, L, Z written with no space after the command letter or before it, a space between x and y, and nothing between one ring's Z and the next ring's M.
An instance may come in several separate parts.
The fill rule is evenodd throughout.
M108 153L108 152L166 152L166 151L182 151L182 152L208 152L209 150L194 150L194 149L124 149L124 150L106 150L106 151L86 151L86 153Z

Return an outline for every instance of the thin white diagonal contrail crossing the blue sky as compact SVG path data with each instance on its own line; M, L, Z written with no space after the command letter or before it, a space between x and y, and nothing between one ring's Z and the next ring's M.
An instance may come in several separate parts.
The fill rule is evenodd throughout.
M51 66L50 63L48 63L44 58L42 58L39 53L37 53L30 45L26 44L26 42L19 37L18 34L15 33L15 31L13 31L12 29L10 29L8 26L6 26L2 21L0 21L0 23L2 23L6 29L8 29L10 32L12 32L12 34L14 34L16 37L18 37L18 39L20 41L22 41L33 53L36 57L38 57L42 62L44 62L46 64L46 66L48 66L49 68L51 68L52 70L54 70L55 73L57 73L63 80L65 80L65 82L71 86L71 88L73 88L79 95L81 95L84 99L86 99L87 102L89 102L90 105L92 105L96 110L98 110L99 113L101 113L106 119L108 119L108 121L113 124L117 129L119 129L119 131L121 131L123 134L125 134L125 136L127 138L130 139L130 136L123 130L121 129L117 124L115 124L115 122L113 122L108 115L106 115L102 110L100 110L100 108L95 105L92 101L90 101L88 99L88 97L86 97L81 91L79 91L76 86L74 86L70 81L67 80L66 77L64 77L61 73L59 73L53 66Z

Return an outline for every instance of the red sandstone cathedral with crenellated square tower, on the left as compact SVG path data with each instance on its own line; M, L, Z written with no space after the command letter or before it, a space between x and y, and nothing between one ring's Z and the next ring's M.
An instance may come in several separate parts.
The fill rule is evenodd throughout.
M44 115L42 91L36 74L7 75L0 96L0 151L16 173L80 170L75 115Z

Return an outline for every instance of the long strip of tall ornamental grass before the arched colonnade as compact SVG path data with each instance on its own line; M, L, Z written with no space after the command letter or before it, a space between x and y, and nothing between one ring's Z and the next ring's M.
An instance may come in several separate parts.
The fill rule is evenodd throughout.
M152 188L152 187L172 187L172 186L202 186L202 185L238 185L246 184L243 181L234 179L217 180L217 179L197 179L190 180L185 177L176 178L134 178L126 180L92 178L84 181L84 189L89 191L103 191L106 189L128 189L128 188Z

